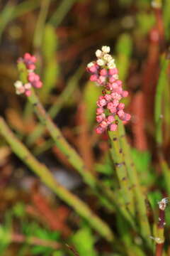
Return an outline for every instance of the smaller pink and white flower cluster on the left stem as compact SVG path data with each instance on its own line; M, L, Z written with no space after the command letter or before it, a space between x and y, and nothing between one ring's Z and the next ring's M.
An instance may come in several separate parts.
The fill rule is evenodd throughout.
M30 55L30 53L25 53L23 58L19 58L18 62L23 62L26 65L28 70L28 82L23 84L20 80L14 83L16 87L16 94L20 95L24 93L26 96L31 95L31 87L40 88L42 87L42 82L40 81L40 76L37 75L35 70L36 58L34 55Z

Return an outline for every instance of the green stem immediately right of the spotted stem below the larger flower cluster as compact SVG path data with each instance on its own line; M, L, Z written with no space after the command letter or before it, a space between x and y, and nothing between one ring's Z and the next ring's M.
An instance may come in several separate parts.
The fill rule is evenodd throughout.
M135 193L137 213L139 215L141 233L143 237L147 238L148 240L150 235L150 228L149 228L149 221L147 218L145 196L142 193L142 188L140 187L140 182L137 176L137 170L136 170L135 164L132 161L132 156L130 154L130 146L125 137L125 127L123 125L123 122L119 122L118 127L119 127L118 129L119 129L121 149L125 156L125 164L127 166L128 176L130 177L130 181L132 183L132 191L134 191Z

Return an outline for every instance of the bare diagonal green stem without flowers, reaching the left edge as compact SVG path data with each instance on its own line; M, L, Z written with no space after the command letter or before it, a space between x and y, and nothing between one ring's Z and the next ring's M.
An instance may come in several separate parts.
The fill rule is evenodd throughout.
M35 157L28 151L17 137L13 134L11 129L8 128L6 122L0 117L0 132L10 144L13 152L23 161L35 174L40 177L40 180L45 185L52 189L54 193L59 196L62 201L71 206L81 217L85 218L99 234L101 234L108 241L112 241L113 233L106 223L103 222L97 215L95 215L86 203L82 202L77 196L67 191L60 183L58 183L52 176L49 169L44 164L41 164Z

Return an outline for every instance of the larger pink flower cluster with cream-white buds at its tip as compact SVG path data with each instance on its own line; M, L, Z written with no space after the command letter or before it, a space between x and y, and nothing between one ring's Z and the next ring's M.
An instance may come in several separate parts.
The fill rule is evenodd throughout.
M109 46L102 46L101 50L96 50L97 60L89 63L86 70L91 74L90 80L96 82L97 86L103 86L104 90L98 97L96 121L98 126L96 132L103 133L106 129L115 131L118 124L115 123L115 115L123 121L129 121L131 116L124 112L125 105L120 103L123 97L128 96L128 91L124 91L122 81L118 78L118 69L115 60L112 58Z

